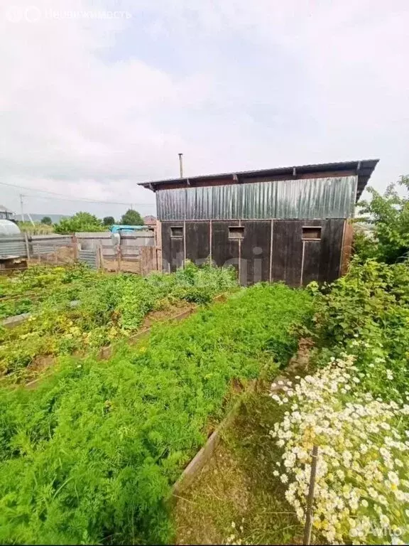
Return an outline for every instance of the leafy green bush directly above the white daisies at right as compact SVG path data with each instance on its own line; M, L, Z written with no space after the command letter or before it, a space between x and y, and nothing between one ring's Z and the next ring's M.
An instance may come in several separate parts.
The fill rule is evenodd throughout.
M323 363L347 351L373 394L395 400L409 390L408 265L354 260L349 274L315 294L313 335L325 348Z

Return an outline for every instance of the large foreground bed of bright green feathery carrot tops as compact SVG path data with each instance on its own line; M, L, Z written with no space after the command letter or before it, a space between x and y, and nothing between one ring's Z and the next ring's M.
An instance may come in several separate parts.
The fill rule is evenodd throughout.
M236 402L231 386L288 361L290 325L310 312L303 291L251 287L4 391L0 541L168 542L165 498Z

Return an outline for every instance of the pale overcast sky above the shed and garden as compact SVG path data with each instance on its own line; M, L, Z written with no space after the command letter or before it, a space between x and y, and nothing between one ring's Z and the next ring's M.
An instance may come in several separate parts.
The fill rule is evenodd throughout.
M379 158L383 189L409 173L407 0L0 6L0 182L154 214L136 183L178 176L178 152L187 176ZM22 192L32 213L127 208ZM18 193L0 204L18 212Z

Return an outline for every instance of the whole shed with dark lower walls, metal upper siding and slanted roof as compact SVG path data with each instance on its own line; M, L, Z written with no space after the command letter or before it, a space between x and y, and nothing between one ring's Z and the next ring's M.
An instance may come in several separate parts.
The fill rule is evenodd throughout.
M302 286L342 274L377 159L173 178L156 192L163 271L185 259L236 267L241 284Z

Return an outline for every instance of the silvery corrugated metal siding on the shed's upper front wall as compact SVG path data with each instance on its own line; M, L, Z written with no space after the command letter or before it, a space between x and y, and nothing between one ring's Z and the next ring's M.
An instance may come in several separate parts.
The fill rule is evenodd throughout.
M349 218L356 176L161 190L159 220Z

